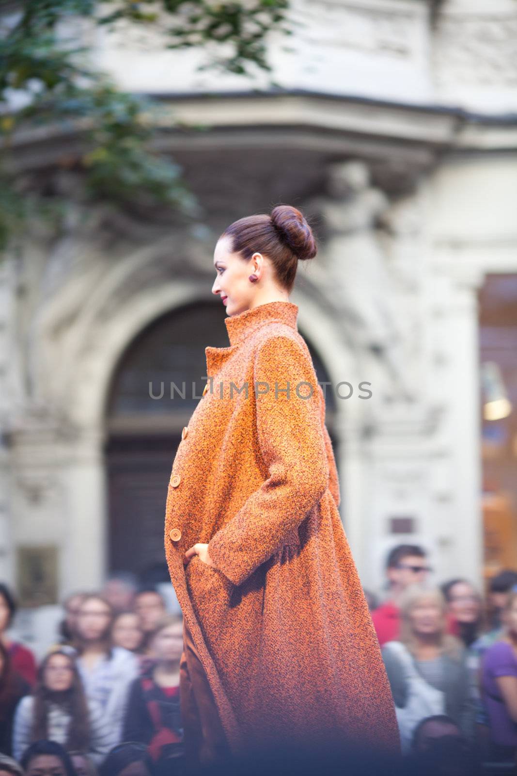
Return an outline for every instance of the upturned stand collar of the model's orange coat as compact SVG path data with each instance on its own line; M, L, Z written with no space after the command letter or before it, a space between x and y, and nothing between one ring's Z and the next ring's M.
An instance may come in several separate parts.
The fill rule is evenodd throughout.
M287 324L297 330L297 317L298 305L281 301L259 304L250 310L244 310L243 313L229 315L225 318L226 331L230 341L229 348L214 348L212 346L205 348L207 377L214 377L226 359L237 350L240 343L253 331L257 331L260 326L275 322Z

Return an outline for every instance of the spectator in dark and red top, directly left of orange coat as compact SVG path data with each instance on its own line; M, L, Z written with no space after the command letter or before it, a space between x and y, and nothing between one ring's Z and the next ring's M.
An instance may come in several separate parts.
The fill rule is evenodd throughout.
M180 659L183 652L183 623L166 615L150 639L155 662L133 681L123 729L125 741L141 741L158 760L169 747L183 751L180 710Z

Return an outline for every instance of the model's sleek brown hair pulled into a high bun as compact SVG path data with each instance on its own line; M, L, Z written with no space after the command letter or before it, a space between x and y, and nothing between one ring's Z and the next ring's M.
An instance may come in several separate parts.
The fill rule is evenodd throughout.
M298 260L314 258L318 248L303 214L291 205L277 205L267 213L246 216L230 223L221 237L232 238L232 250L246 262L255 251L271 259L277 279L288 291L295 283Z

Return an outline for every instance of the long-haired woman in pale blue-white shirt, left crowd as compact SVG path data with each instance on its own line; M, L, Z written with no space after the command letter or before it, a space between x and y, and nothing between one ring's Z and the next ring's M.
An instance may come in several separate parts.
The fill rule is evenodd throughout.
M112 646L113 609L98 594L87 595L77 625L78 668L86 697L104 712L112 742L119 742L129 684L138 676L139 660L128 650Z

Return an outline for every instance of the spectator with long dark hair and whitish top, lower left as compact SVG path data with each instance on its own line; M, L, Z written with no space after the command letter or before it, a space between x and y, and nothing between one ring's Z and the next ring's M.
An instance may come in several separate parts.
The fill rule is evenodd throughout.
M102 708L87 701L74 657L63 650L43 659L33 695L22 698L16 708L12 736L16 760L30 743L40 740L88 752L97 763L112 746Z

